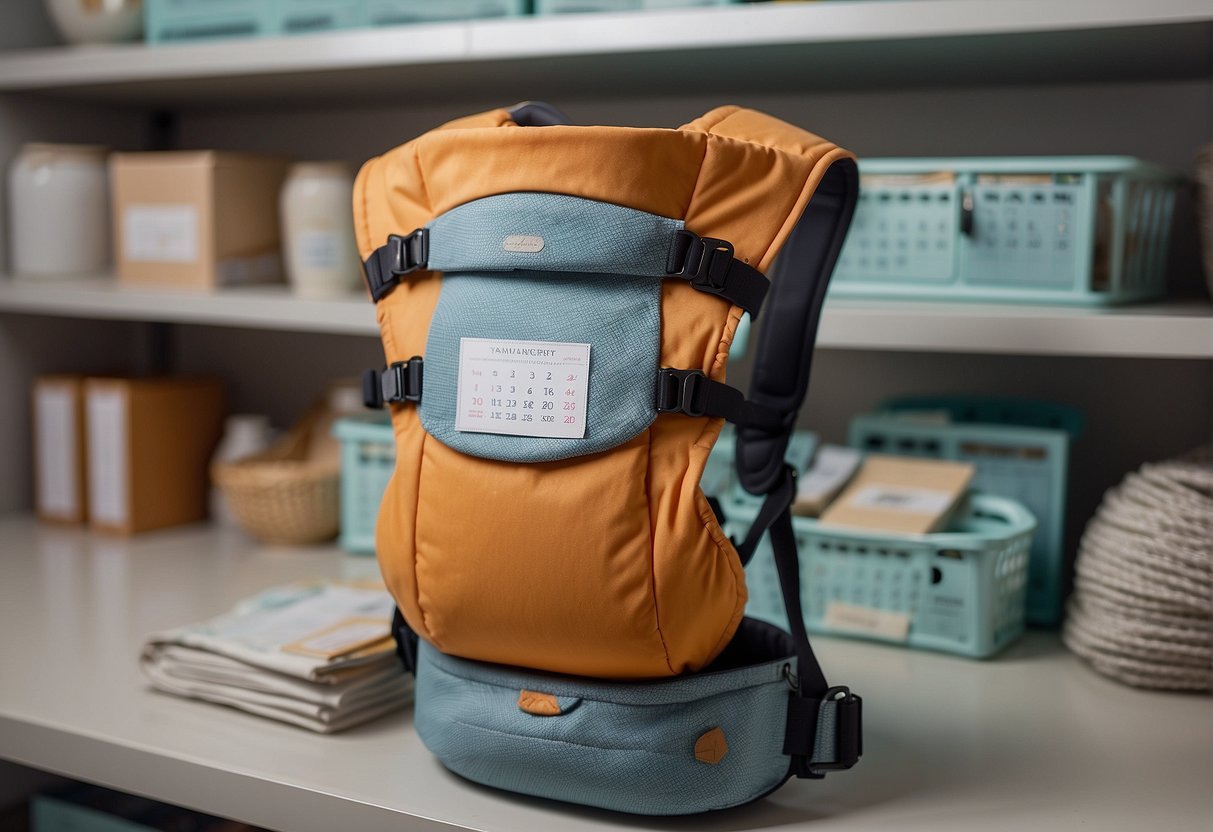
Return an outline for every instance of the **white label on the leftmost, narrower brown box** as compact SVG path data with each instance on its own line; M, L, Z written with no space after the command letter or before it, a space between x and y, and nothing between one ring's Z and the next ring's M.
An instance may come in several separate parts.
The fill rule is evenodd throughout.
M38 449L38 511L49 517L75 517L76 404L68 384L44 382L36 388L34 418Z

